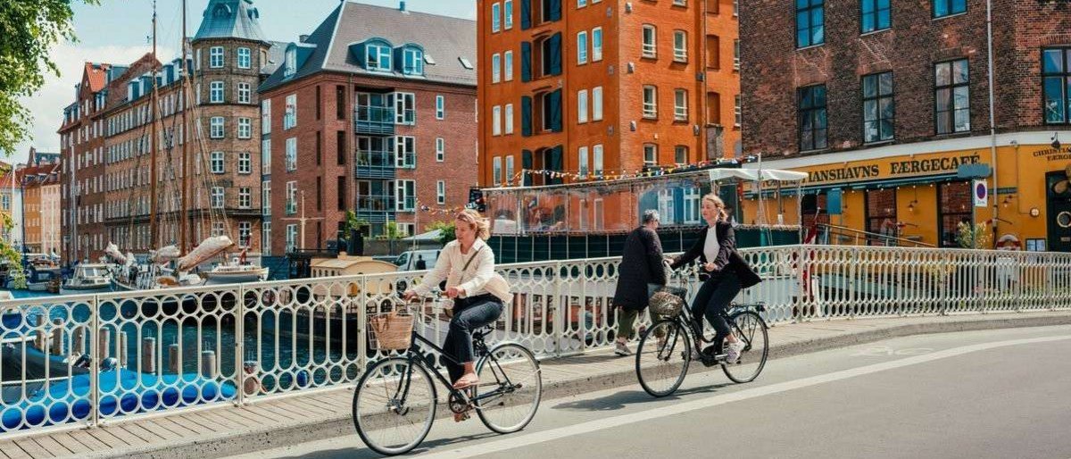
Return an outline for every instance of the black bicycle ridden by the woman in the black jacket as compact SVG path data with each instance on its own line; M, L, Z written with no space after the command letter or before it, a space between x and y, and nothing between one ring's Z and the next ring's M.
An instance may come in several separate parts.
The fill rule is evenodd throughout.
M714 337L704 336L703 317L694 321L687 306L676 315L657 320L640 336L636 347L639 385L652 397L673 394L684 382L694 356L708 367L721 365L725 375L735 383L754 381L770 353L766 321L759 315L765 310L761 303L733 305L721 312L733 334L744 343L740 357L733 362L725 360L725 354L704 353L703 344L713 344Z

